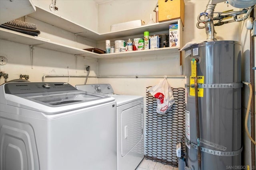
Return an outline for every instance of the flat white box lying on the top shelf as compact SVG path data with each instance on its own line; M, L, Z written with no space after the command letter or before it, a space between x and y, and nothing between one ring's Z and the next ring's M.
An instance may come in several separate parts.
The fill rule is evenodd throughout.
M122 29L130 29L134 27L139 27L145 25L145 22L142 20L134 20L134 21L128 21L123 23L116 23L114 25L111 25L111 31L120 31Z

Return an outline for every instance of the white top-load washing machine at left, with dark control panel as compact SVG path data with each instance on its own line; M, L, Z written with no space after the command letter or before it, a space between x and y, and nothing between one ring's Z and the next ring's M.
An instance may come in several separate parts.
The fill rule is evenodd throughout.
M116 102L68 83L0 86L0 170L116 170Z

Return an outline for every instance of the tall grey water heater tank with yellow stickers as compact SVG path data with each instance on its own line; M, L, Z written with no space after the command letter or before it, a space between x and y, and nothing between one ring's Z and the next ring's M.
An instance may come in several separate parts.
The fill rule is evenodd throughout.
M185 74L188 82L186 84L186 169L226 170L241 166L240 43L237 41L200 43L186 49L185 57ZM198 82L197 89L194 87L194 69ZM199 123L200 136L197 136L197 123ZM199 148L202 155L201 165L198 164Z

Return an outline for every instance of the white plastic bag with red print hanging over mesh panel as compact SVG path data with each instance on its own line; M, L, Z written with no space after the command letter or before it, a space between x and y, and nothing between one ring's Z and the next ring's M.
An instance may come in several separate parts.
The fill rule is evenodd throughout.
M147 91L156 98L156 112L158 114L167 113L174 104L172 88L167 82L166 76L164 76L164 79L158 84L149 88Z

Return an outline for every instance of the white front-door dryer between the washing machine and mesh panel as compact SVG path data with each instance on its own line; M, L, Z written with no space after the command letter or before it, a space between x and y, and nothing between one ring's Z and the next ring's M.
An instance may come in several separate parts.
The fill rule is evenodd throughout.
M117 168L135 170L144 158L143 97L114 94L110 84L76 85L79 90L108 95L116 100Z

